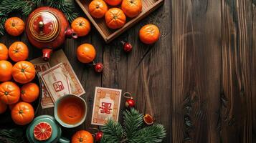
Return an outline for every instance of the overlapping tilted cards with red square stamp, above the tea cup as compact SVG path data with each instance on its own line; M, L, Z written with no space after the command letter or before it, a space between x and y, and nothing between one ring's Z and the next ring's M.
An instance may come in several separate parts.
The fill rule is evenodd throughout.
M85 89L62 49L55 51L49 62L43 61L41 57L31 62L41 77L43 109L54 107L54 102L65 94L85 94Z

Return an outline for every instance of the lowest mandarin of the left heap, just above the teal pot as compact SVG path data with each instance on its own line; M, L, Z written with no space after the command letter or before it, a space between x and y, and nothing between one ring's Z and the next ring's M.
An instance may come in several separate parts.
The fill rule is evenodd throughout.
M31 104L19 102L11 110L11 119L19 125L25 125L34 119L34 109Z

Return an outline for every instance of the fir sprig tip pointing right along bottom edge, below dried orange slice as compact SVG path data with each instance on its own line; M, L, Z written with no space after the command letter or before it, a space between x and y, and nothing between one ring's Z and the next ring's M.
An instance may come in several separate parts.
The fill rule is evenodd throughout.
M129 143L146 142L146 143L156 143L162 142L163 138L166 137L166 130L161 124L153 124L152 126L145 127L129 139Z

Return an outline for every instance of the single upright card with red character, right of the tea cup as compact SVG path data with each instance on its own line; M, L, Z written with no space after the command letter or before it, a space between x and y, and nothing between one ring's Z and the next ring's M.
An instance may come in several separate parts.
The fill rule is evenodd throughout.
M102 126L108 119L118 122L121 94L120 89L95 88L92 124Z

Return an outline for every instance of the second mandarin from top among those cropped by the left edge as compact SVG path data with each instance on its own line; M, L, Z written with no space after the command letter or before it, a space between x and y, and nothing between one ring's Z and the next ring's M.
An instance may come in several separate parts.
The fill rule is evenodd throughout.
M12 64L9 61L0 61L0 82L11 80Z

